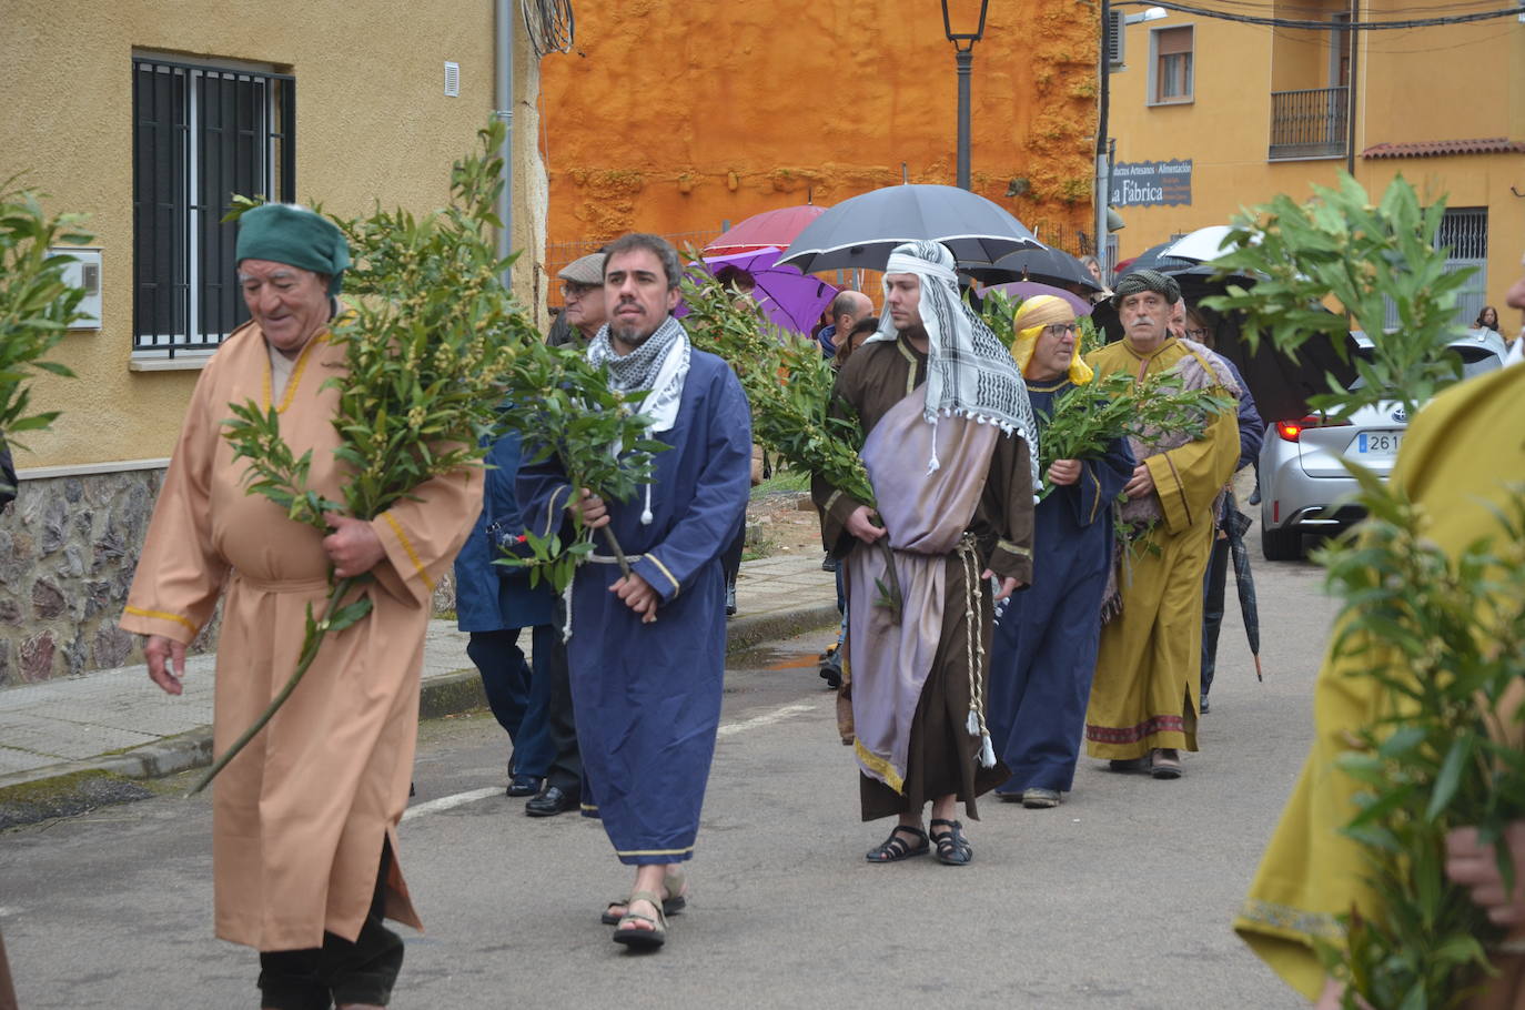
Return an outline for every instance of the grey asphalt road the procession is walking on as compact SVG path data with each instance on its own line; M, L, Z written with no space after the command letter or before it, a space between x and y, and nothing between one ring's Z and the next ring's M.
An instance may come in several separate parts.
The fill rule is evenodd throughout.
M1331 615L1308 565L1257 568L1267 677L1232 609L1202 751L1174 783L1081 760L1054 810L990 801L974 864L874 867L811 635L737 658L689 911L627 955L596 821L523 816L485 716L425 723L401 859L425 935L395 1007L1302 1005L1229 931L1312 731ZM1232 589L1231 589L1232 592ZM210 816L165 795L0 835L21 1007L256 1007L252 950L212 938ZM178 783L183 786L183 783ZM494 795L471 798L493 790ZM404 931L406 932L406 931Z

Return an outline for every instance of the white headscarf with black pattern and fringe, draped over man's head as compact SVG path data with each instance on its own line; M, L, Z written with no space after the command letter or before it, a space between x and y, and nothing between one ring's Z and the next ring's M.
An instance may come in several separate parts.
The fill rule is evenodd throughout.
M1032 488L1037 490L1037 421L1028 384L1011 351L959 299L953 265L947 246L933 241L895 246L884 264L886 299L889 275L915 273L921 279L921 325L927 331L927 423L936 424L941 415L958 415L1022 436L1032 464ZM898 337L889 311L884 311L878 331L868 342ZM933 450L927 471L938 465Z

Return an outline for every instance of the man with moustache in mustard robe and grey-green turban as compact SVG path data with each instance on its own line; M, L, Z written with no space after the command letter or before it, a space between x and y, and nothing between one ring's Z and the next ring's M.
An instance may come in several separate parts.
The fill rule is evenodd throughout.
M1176 371L1186 389L1238 391L1222 360L1168 330L1180 287L1154 270L1118 281L1115 304L1124 339L1092 352L1098 375L1135 381ZM1212 503L1234 474L1238 426L1232 413L1209 418L1202 438L1177 432L1130 439L1138 465L1124 485L1119 536L1133 537L1107 607L1096 674L1086 712L1086 752L1113 770L1179 778L1179 752L1197 749L1202 674L1202 578L1212 551ZM1116 613L1116 603L1121 613Z

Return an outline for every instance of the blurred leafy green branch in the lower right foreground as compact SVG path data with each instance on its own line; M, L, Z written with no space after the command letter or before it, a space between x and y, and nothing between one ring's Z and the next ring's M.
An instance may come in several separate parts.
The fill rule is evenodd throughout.
M1491 731L1516 725L1525 677L1525 487L1513 487L1501 536L1447 557L1429 517L1363 468L1360 536L1321 554L1344 600L1333 656L1376 679L1385 712L1359 731L1339 767L1357 783L1344 831L1366 850L1380 911L1347 917L1345 947L1325 947L1336 978L1372 1007L1461 1007L1502 938L1446 879L1446 835L1484 842L1525 818L1525 754ZM1514 867L1499 847L1505 879Z

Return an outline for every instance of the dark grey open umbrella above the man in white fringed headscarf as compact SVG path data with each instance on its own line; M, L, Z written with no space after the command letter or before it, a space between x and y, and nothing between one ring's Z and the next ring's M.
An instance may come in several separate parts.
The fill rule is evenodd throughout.
M811 221L779 262L802 273L883 270L895 246L918 238L946 244L955 259L984 264L1019 249L1045 249L1022 221L985 197L956 186L906 185L843 200Z

